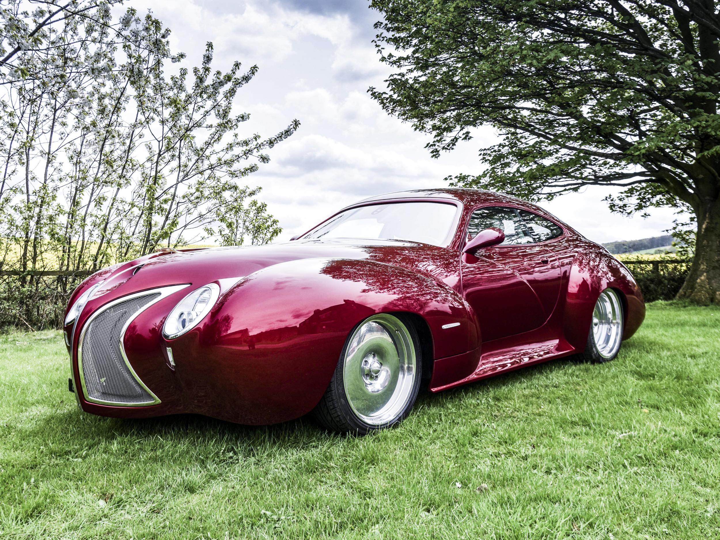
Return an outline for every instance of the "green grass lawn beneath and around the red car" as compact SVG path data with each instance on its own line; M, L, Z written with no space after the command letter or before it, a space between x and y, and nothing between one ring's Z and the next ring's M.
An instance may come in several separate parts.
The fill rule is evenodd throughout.
M718 307L650 305L615 361L425 394L365 438L80 413L58 333L0 336L0 366L0 539L720 537Z

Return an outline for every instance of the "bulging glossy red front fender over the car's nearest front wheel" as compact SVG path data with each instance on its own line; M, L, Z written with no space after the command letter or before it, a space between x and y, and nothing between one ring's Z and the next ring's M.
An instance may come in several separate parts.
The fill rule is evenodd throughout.
M391 264L333 258L254 272L220 297L202 328L176 338L172 348L186 366L182 379L186 393L196 396L195 412L274 423L317 405L348 333L377 312L426 320L436 358L467 350L467 310L445 284ZM207 400L212 410L197 399L202 395L214 396ZM227 407L218 410L218 402Z

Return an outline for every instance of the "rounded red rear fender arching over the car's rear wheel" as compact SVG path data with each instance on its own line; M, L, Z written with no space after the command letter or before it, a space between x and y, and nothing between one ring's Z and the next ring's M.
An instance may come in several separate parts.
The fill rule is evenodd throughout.
M577 351L585 349L595 302L608 287L622 293L623 339L631 337L645 318L642 293L631 272L604 251L582 251L572 261L563 319L565 338Z

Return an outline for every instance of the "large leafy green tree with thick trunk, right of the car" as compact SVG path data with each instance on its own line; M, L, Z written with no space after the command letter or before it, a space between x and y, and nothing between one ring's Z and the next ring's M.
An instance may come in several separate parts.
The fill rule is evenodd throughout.
M720 302L720 3L716 0L372 0L390 114L432 156L491 125L485 170L456 185L552 198L618 186L611 210L696 220L678 294Z

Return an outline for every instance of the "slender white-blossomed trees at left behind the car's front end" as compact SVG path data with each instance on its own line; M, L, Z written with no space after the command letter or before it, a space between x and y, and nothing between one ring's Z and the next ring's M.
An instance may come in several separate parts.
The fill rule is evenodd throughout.
M184 59L170 31L134 9L114 16L118 3L0 0L0 270L20 273L0 280L0 324L57 323L78 280L48 292L33 271L280 232L261 189L239 182L299 122L240 136L250 114L235 98L257 66L213 70L208 43L200 66L168 74Z

